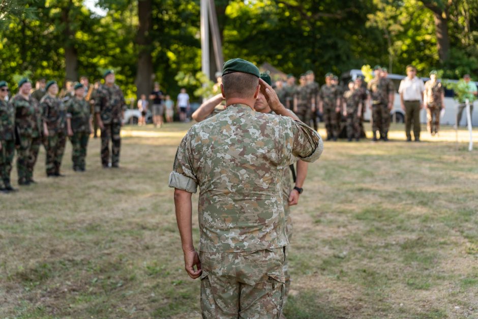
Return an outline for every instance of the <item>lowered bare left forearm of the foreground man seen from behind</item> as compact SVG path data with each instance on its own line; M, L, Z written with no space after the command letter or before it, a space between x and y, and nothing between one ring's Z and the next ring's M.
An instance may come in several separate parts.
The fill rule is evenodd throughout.
M192 202L191 193L174 189L174 205L176 208L177 228L180 231L181 246L183 251L194 250L193 233L192 233Z

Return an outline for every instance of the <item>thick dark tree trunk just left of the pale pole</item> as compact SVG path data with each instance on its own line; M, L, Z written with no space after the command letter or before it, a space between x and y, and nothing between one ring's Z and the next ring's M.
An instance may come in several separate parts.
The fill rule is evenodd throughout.
M139 28L136 37L138 45L138 70L136 73L136 95L150 94L152 90L153 57L151 44L152 0L138 0Z

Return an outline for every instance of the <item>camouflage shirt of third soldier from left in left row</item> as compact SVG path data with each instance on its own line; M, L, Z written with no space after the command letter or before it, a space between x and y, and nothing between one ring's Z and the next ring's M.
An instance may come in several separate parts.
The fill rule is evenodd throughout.
M46 94L40 101L43 110L43 121L48 127L48 132L65 132L66 109L65 103L57 97Z

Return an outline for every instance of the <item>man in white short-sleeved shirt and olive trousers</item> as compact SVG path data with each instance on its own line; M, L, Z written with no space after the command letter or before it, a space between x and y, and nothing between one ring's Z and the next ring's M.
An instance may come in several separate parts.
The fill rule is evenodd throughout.
M423 92L425 85L416 76L416 69L412 65L407 66L407 77L400 82L398 93L402 109L405 111L405 133L407 142L411 141L411 124L413 122L413 136L415 142L420 141L420 110L423 107Z

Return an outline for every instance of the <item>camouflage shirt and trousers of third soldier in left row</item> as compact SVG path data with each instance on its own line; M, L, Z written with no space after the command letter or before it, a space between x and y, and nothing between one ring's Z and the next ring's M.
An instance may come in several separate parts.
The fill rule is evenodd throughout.
M59 175L66 143L66 109L63 101L57 97L45 95L40 101L43 109L43 121L48 127L45 139L46 175Z

